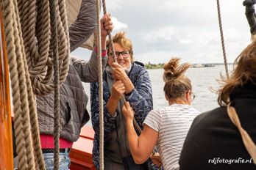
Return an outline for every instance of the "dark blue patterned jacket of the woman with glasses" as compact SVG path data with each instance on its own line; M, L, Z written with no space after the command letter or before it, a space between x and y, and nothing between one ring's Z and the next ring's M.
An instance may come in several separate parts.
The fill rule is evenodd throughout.
M152 100L152 85L149 78L149 73L143 67L143 64L139 62L132 63L132 68L128 73L129 79L135 88L129 95L126 95L127 101L129 101L133 110L135 111L135 120L138 122L141 128L143 128L143 121L146 118L149 111L153 108ZM110 97L110 89L107 85L107 73L103 73L103 107L104 107L104 136L115 130L115 119L112 117L106 108L107 100ZM91 104L91 118L93 129L95 131L93 141L93 163L96 169L99 169L99 84L90 84L90 104ZM150 163L150 162L149 162ZM150 163L151 164L151 163ZM152 169L155 169L152 166Z

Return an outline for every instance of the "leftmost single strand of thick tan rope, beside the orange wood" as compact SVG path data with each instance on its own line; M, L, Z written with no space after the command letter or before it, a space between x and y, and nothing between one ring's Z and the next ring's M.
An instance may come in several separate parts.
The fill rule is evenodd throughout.
M10 80L12 86L12 95L13 95L13 108L16 110L15 113L15 121L23 122L23 117L21 115L21 94L19 91L19 82L18 82L18 66L16 63L17 56L15 55L15 40L14 40L14 22L15 22L15 14L13 1L1 1L1 11L3 12L4 17L4 35L7 43L7 56L9 62L9 70L10 70ZM9 57L12 56L12 57ZM21 152L24 154L24 157L18 155L18 161L20 167L28 167L27 157L26 157L26 148L25 141L21 140L24 138L24 125L18 125L14 123L15 127L15 135L16 140L20 142L16 142L17 152Z

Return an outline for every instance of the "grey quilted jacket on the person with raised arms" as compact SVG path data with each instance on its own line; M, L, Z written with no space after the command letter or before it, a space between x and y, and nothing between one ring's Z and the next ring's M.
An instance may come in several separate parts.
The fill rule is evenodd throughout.
M96 27L95 0L83 0L77 20L69 28L71 51L88 40ZM102 67L107 56L102 57ZM88 96L83 82L98 80L97 57L95 51L89 62L71 58L68 76L60 86L60 137L68 141L77 141L80 129L89 120L86 109ZM41 134L53 134L54 130L54 92L37 96L38 122Z

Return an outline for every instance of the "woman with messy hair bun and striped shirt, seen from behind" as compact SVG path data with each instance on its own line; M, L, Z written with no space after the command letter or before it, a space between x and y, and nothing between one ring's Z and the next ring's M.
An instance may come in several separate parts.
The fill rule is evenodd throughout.
M191 80L185 75L190 66L188 63L179 64L177 58L164 64L163 90L169 106L149 112L139 137L132 124L132 108L129 103L125 103L122 108L126 118L129 149L136 163L143 163L151 157L158 166L163 163L164 169L179 169L179 154L185 136L194 117L199 114L199 111L191 106L194 95ZM159 155L152 155L155 145L160 154L160 161L155 160Z

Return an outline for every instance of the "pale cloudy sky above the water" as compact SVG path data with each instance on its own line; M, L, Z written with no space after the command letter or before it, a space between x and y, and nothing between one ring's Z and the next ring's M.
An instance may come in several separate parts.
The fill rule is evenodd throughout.
M216 0L107 0L114 30L132 41L135 60L146 63L223 63ZM251 42L242 0L220 0L227 62ZM71 53L89 59L90 51Z

